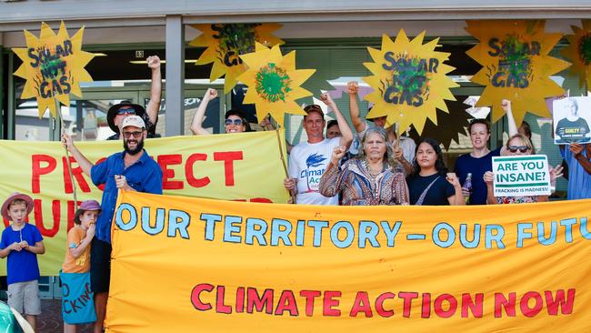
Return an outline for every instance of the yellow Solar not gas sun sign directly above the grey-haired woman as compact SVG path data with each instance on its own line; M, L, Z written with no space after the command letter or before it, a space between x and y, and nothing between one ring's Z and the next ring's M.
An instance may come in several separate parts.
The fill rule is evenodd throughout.
M427 118L437 124L436 109L447 112L446 99L456 100L449 89L458 85L446 76L455 68L444 64L449 54L435 51L439 38L423 44L424 37L409 40L401 29L394 42L382 36L381 50L367 47L374 60L364 63L373 74L363 78L374 88L365 97L374 104L368 118L387 116L399 132L414 125L421 134Z

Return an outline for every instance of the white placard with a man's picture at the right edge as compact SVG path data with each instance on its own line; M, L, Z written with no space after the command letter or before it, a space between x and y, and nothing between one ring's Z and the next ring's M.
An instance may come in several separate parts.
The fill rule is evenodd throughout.
M591 97L567 97L553 103L554 143L591 142Z

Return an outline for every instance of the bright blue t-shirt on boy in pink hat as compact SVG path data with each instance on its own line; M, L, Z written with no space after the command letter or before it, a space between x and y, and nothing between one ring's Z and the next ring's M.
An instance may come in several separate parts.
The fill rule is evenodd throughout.
M5 249L11 244L15 242L19 243L22 240L26 240L29 246L34 246L36 242L42 241L43 237L37 227L28 223L25 223L25 227L19 231L15 231L12 226L8 226L2 232L0 248ZM6 260L6 272L6 282L9 285L17 282L36 280L39 278L37 255L25 249L10 251L8 260Z

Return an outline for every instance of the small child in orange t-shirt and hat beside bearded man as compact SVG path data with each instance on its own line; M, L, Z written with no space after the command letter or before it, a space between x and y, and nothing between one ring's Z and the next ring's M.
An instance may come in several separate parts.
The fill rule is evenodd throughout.
M86 200L75 211L75 226L67 233L67 248L65 249L64 265L62 266L63 273L87 273L90 270L90 242L95 237L95 222L100 212L101 205L96 200ZM76 289L82 293L86 288L85 286L68 286L65 292L70 294L70 297L75 297ZM92 296L90 298L92 299ZM92 315L94 315L94 307L92 310ZM84 311L81 313L84 313ZM64 317L65 333L75 333L76 326L74 322L84 322L86 319L74 318L73 312L65 308L65 303L62 303L62 315ZM72 321L72 323L68 323L68 321Z

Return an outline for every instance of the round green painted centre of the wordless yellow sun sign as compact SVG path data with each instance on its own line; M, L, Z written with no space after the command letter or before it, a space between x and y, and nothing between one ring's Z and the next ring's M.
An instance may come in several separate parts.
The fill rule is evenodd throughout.
M269 63L261 68L255 77L256 93L268 102L285 102L285 96L292 90L291 79L285 69Z

